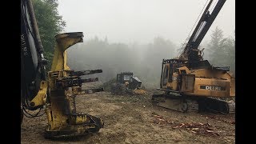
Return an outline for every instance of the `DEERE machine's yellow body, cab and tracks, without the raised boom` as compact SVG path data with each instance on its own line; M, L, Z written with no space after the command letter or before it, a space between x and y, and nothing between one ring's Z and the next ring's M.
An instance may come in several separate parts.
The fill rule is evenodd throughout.
M160 88L154 94L158 106L182 112L211 110L234 113L235 78L227 67L214 67L206 60L187 62L163 59ZM222 99L219 99L222 98Z

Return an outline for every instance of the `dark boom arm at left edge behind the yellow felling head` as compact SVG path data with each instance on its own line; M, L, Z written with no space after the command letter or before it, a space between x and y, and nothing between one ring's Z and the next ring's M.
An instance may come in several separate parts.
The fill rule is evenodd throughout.
M43 82L46 83L46 59L43 53L32 2L21 0L21 100L23 110L42 108L42 105L31 106L30 101L36 95L46 91L42 90L45 87Z

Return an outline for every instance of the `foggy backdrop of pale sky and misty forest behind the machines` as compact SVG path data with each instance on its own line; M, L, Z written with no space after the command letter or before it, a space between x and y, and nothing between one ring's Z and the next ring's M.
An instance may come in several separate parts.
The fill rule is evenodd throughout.
M73 70L102 69L101 82L133 72L157 88L163 58L175 58L207 0L60 0L63 32L82 31L84 42L70 47ZM216 0L214 2L217 2ZM213 3L214 3L213 2ZM234 72L234 0L227 0L202 40L204 59ZM200 15L201 16L201 15Z

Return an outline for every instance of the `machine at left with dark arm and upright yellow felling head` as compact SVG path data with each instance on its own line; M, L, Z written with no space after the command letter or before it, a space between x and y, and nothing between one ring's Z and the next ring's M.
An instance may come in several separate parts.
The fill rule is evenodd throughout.
M102 70L70 70L66 50L83 42L82 32L55 36L54 58L46 74L47 60L38 31L31 0L21 0L21 119L46 115L45 138L66 138L98 132L104 122L90 114L76 112L75 97L103 91L82 90L82 83L98 78L82 79L82 75ZM44 109L44 112L42 112Z

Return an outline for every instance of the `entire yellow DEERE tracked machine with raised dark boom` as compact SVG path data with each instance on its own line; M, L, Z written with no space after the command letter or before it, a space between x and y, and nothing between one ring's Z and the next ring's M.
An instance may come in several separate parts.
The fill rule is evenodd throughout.
M226 0L213 0L203 11L197 26L178 58L163 59L160 80L161 94L153 94L157 106L180 112L210 111L221 114L235 112L235 78L229 66L212 66L198 49Z

